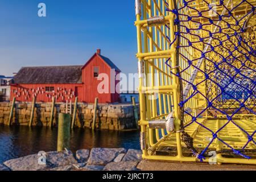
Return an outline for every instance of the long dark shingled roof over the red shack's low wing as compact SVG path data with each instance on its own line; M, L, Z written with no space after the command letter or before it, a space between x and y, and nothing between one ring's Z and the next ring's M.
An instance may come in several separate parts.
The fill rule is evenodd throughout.
M13 84L82 83L82 65L59 67L23 67L14 76Z

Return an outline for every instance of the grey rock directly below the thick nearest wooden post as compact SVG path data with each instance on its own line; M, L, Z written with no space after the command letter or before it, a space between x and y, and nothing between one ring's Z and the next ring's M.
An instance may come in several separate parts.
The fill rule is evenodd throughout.
M46 162L47 162L47 166L50 168L55 168L59 166L68 166L68 165L78 163L71 151L47 152Z

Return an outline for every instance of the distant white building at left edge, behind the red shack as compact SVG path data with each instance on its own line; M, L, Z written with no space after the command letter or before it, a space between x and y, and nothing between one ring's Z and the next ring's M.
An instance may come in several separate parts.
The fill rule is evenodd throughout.
M3 94L4 101L10 100L10 94L11 94L10 81L12 79L13 77L6 77L3 75L0 75L0 92Z

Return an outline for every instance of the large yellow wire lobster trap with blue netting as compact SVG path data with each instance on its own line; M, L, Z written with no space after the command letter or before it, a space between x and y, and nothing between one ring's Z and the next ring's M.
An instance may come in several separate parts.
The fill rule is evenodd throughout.
M135 0L144 159L256 164L255 0Z

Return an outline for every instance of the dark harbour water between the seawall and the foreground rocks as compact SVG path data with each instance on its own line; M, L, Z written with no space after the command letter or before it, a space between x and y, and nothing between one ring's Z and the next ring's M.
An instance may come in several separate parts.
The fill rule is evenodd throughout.
M0 126L0 163L38 151L54 151L57 129L46 127ZM71 150L93 147L124 147L139 149L138 131L92 131L75 129L71 132Z

